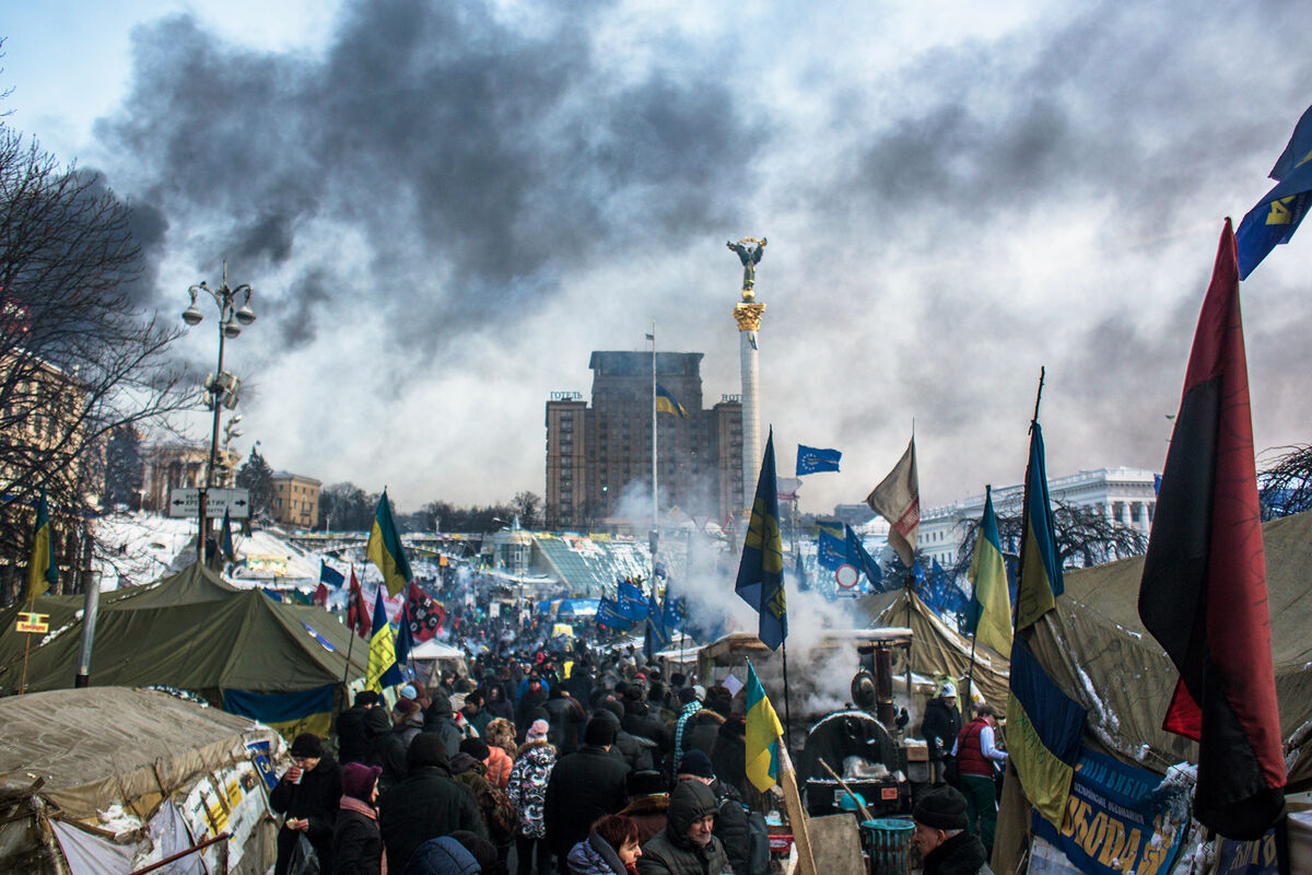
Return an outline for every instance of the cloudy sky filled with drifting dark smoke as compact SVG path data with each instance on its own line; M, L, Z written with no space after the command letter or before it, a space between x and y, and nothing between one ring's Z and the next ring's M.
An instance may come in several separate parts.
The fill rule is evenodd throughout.
M1312 5L808 5L47 0L7 10L0 85L133 205L144 307L224 257L256 287L228 363L276 468L542 493L590 350L655 320L739 392L724 241L766 236L762 424L782 468L844 453L803 510L913 420L924 504L1019 481L1044 365L1052 476L1160 470L1221 222L1312 104ZM1302 234L1244 286L1258 450L1312 439Z

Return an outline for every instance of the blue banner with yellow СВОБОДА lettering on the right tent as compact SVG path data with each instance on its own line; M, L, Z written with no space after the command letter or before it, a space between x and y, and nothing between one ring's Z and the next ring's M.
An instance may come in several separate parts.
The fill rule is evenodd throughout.
M1084 748L1061 829L1038 812L1033 829L1088 875L1169 872L1185 829L1155 811L1152 794L1160 783L1151 771Z

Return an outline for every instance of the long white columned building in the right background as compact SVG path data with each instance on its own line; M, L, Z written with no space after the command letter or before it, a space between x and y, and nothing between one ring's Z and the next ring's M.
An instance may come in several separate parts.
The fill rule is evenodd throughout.
M1099 468L1048 480L1052 501L1065 501L1080 508L1101 508L1109 519L1135 526L1148 535L1157 509L1155 481L1157 474L1138 468ZM1025 500L1025 484L993 489L993 506L1017 512ZM956 561L956 548L966 526L984 514L984 495L970 496L956 504L932 508L920 516L920 551L942 565Z

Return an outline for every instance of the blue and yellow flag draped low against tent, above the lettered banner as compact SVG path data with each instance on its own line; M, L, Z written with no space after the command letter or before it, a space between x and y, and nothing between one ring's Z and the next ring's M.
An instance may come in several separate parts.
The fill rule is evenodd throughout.
M1025 798L1057 829L1071 795L1088 710L1063 693L1025 639L1012 640L1006 746Z

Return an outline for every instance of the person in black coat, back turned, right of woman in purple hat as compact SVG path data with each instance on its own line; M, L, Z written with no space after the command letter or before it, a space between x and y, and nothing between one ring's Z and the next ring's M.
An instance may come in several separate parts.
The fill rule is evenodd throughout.
M387 849L387 870L400 871L429 838L467 829L487 838L474 792L451 778L446 745L434 732L420 732L405 752L408 773L378 799L378 825Z

